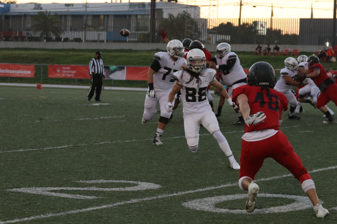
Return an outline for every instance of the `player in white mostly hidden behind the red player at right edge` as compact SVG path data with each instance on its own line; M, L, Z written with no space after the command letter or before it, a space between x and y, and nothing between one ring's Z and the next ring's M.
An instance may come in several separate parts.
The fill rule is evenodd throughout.
M299 62L298 67L309 69L309 66L308 66L309 63L307 62L307 60L308 60L308 57L306 55L300 55L297 59L297 61ZM305 74L299 72L298 75L305 75ZM298 93L299 93L298 101L297 101L298 105L295 109L295 113L300 112L301 103L303 102L309 103L312 106L314 106L314 108L316 108L317 97L320 94L320 90L311 78L305 78L305 82L307 82L308 85L305 85L304 87L298 90ZM313 101L304 98L304 96L309 93L311 93ZM325 105L325 107L329 110L331 115L334 115L334 112L327 105Z

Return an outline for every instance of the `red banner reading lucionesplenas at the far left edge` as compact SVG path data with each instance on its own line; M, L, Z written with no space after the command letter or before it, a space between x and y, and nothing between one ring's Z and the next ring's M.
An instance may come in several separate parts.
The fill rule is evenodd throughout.
M34 78L35 65L0 64L0 76Z

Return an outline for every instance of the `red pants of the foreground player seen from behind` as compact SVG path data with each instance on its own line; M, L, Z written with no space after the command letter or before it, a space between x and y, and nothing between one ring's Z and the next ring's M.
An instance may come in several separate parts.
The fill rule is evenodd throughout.
M305 179L311 179L288 138L280 130L272 137L261 141L242 140L241 147L240 178L247 176L254 180L263 161L270 157L288 169L301 183Z

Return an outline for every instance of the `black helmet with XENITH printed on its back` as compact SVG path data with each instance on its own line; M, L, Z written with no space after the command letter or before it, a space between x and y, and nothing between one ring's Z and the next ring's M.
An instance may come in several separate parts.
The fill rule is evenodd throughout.
M267 62L256 62L249 69L248 83L254 86L274 87L276 83L274 68Z

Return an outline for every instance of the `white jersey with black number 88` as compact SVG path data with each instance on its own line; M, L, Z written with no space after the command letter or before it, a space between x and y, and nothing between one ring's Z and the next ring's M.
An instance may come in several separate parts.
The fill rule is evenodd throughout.
M195 78L189 82L191 75L188 71L180 70L173 74L174 78L182 85L181 98L184 104L184 114L198 114L212 110L207 100L206 90L215 75L215 70L207 68L200 73L200 83L198 83L199 81Z

